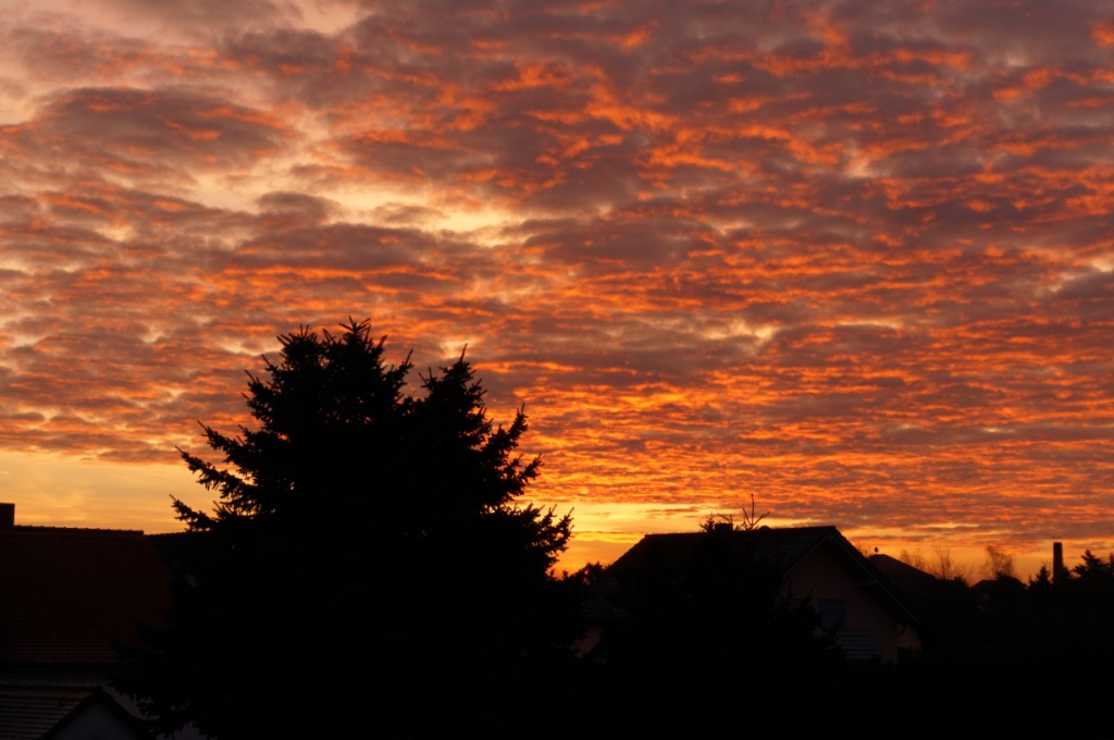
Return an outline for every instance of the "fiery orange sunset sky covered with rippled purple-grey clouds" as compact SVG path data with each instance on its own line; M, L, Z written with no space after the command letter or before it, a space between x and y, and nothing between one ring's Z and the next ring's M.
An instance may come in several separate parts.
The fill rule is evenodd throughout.
M182 528L197 422L351 317L525 408L569 567L752 502L1071 565L1112 211L1110 0L4 0L0 499Z

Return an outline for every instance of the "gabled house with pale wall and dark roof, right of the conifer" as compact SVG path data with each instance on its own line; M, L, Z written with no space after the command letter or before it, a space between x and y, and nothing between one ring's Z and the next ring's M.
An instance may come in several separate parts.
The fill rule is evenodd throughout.
M916 607L836 527L716 534L730 536L758 561L772 564L780 573L780 596L808 602L847 658L896 662L901 652L924 648L926 627ZM603 596L589 608L608 608L610 597L636 577L691 574L697 547L709 536L704 532L646 535L604 572L597 590ZM595 639L589 634L582 649Z

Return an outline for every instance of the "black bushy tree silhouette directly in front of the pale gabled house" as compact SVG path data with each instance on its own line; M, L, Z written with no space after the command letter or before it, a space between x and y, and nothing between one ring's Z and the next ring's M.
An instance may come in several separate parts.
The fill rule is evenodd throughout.
M707 709L740 702L773 713L810 697L819 711L838 681L842 653L818 613L780 595L780 556L730 522L707 522L683 555L647 547L599 578L594 737L721 731Z

